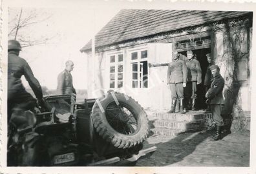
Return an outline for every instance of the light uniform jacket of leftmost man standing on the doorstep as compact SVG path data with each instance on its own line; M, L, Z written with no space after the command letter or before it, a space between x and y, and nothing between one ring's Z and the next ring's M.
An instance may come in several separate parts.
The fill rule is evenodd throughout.
M180 59L168 64L167 83L179 83L187 81L186 63Z

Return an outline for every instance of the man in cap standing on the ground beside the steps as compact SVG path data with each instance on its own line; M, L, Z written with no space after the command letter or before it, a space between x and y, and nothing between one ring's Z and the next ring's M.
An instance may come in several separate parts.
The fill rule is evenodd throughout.
M206 92L206 104L211 105L211 113L213 121L216 123L216 133L211 137L211 140L219 140L220 132L224 122L221 116L222 106L224 104L224 99L222 91L224 88L224 79L220 75L220 68L217 65L211 65L209 67L211 74L213 75L213 81L211 82L211 88Z

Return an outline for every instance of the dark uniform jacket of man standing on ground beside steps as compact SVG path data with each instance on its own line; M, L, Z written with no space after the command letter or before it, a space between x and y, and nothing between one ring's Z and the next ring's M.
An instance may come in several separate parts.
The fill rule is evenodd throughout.
M213 78L211 88L206 92L206 98L211 100L211 104L224 104L222 95L224 84L224 79L220 74Z

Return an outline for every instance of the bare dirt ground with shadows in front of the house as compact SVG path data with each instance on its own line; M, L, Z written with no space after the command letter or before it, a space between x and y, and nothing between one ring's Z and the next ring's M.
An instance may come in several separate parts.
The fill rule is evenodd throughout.
M156 146L151 157L138 160L136 166L249 166L250 131L232 131L212 142L206 133L187 132L175 137L153 135L144 147Z

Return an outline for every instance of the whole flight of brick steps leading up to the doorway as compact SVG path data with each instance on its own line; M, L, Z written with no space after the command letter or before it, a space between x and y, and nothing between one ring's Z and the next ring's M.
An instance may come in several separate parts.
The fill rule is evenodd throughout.
M184 131L205 130L211 124L211 113L206 111L188 111L181 113L151 113L149 115L151 131L155 135L172 136Z

